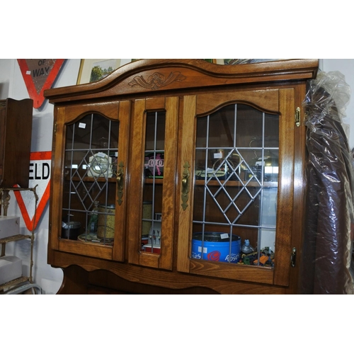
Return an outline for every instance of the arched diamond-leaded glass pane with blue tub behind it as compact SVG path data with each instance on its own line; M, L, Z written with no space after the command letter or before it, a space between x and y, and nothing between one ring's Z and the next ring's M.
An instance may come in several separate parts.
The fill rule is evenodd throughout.
M278 115L232 104L197 118L193 258L273 266L278 160Z

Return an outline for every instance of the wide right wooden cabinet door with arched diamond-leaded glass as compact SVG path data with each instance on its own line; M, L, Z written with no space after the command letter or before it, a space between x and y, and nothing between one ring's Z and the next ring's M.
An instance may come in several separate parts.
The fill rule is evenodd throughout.
M205 93L184 105L178 270L286 285L294 90Z

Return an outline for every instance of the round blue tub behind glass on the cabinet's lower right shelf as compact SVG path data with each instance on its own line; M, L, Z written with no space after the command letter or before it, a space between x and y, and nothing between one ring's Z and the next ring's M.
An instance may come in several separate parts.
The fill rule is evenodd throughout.
M192 258L205 261L238 263L240 260L241 237L232 235L231 255L230 236L223 232L195 232L192 240ZM203 252L202 252L203 247Z

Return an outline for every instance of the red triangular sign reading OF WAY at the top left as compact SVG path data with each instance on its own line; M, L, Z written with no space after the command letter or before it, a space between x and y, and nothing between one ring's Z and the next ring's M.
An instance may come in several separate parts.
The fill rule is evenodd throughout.
M65 59L17 59L33 107L40 108Z

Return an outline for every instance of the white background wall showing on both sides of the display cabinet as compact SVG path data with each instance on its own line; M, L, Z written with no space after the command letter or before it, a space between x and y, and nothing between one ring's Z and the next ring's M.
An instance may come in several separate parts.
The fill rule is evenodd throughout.
M80 59L67 59L52 87L76 84L79 65ZM339 71L344 74L347 83L354 88L354 59L321 59L320 65L324 72ZM0 99L8 97L15 99L28 98L28 91L16 59L0 59ZM350 147L354 147L354 98L348 104L347 118L344 122L350 125ZM33 109L32 152L50 151L52 149L52 125L53 106L45 101L41 108ZM11 195L11 198L12 201L15 199L13 195ZM62 283L63 275L62 270L47 265L48 212L47 205L35 230L34 276L35 282L42 287L45 294L55 294ZM21 217L21 212L16 207L16 203L11 204L8 215ZM21 217L21 232L26 232L26 230ZM24 260L23 270L27 271L28 241L21 241L11 246L8 244L6 253L11 251L12 254Z

